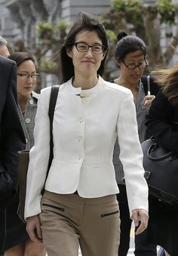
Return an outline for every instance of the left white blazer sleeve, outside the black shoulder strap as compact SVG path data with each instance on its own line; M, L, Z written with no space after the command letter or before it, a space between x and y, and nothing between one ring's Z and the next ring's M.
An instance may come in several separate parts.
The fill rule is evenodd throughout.
M29 152L26 179L25 218L41 212L41 191L44 188L50 155L50 119L48 116L51 88L44 88L35 116L35 144ZM40 168L38 165L40 163Z

